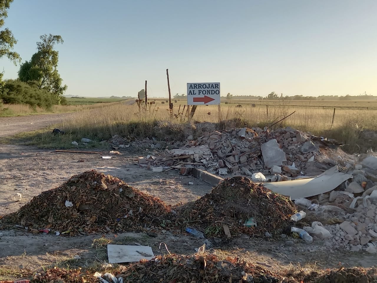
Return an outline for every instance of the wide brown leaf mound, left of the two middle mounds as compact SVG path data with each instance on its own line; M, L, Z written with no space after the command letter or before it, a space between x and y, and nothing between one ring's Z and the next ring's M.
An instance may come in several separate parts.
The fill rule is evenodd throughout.
M159 198L92 170L35 196L2 222L26 226L35 233L40 229L69 235L146 231L164 225L170 212Z

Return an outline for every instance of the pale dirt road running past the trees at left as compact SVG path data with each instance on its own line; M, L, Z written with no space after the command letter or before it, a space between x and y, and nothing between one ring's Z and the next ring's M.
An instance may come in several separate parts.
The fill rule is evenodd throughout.
M43 129L61 123L72 113L28 115L20 117L0 117L0 137L15 135L20 132Z

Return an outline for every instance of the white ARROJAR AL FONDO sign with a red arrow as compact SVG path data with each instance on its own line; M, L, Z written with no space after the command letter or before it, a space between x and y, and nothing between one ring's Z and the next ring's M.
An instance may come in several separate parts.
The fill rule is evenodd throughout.
M220 83L187 83L187 105L220 104Z

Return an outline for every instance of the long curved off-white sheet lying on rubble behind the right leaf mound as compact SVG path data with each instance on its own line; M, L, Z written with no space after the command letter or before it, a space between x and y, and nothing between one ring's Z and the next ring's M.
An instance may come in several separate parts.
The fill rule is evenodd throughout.
M351 174L339 172L337 166L334 166L317 177L264 183L263 185L271 191L289 195L292 200L295 200L332 191L349 178L352 178Z

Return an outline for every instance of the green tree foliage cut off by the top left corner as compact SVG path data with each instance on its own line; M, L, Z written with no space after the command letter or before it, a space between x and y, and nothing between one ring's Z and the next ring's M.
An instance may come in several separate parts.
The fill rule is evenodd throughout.
M13 0L0 0L0 28L4 26L4 20L8 17L8 9ZM21 62L20 55L12 51L17 40L14 38L12 32L5 28L0 30L0 58L6 56L14 65Z

